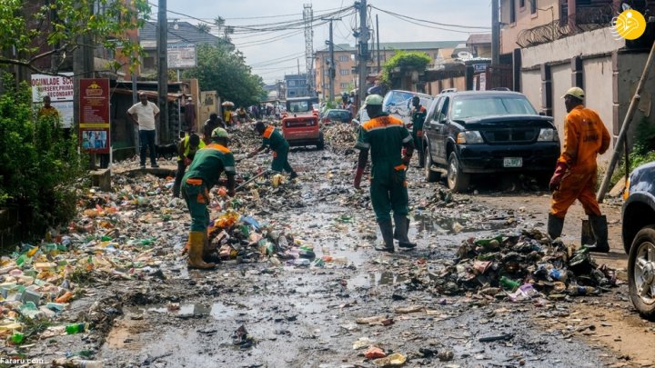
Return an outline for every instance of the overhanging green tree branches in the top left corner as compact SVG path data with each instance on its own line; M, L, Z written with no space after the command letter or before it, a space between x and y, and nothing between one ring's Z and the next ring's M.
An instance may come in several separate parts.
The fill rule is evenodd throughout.
M20 65L36 73L56 73L65 55L82 44L82 36L93 45L121 50L130 67L138 65L141 48L127 31L141 27L150 15L147 0L57 0L33 4L22 0L3 0L0 6L0 48L13 50L0 54L0 65ZM62 56L44 67L43 59ZM114 69L123 66L119 62Z

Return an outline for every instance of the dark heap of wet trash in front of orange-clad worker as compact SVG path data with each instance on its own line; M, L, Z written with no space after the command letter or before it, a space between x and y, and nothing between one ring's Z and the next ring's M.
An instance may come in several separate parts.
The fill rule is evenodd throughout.
M479 293L510 301L550 300L593 295L616 286L614 270L599 266L589 249L576 250L539 230L462 242L453 264L431 269L427 263L411 276L413 288L448 295Z

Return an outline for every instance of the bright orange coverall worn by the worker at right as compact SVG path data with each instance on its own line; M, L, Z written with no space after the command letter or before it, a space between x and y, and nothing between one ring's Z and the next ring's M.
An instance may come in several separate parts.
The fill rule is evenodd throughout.
M596 200L596 156L610 147L610 132L593 110L579 104L564 119L564 147L558 163L569 169L552 194L550 213L563 218L576 199L585 214L600 216Z

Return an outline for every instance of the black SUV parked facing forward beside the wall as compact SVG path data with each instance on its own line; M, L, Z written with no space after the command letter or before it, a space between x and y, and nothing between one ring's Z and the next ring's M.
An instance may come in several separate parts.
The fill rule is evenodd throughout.
M448 187L463 192L471 174L523 172L545 184L559 157L552 121L523 94L444 90L423 124L426 180L447 174Z

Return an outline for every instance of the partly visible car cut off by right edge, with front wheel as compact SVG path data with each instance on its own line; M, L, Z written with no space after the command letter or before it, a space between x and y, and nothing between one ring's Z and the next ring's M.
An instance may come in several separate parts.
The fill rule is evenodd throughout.
M628 255L628 288L637 311L655 319L655 163L632 171L621 212L623 248Z

